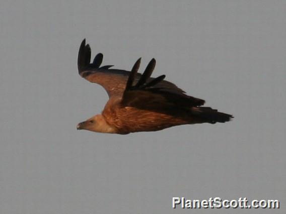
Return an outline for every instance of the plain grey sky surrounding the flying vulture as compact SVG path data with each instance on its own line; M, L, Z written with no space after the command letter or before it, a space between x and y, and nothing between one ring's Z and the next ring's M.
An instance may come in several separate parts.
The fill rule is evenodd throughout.
M0 213L285 213L286 1L1 1ZM167 75L226 124L125 136L78 131L108 96L103 64ZM280 209L172 209L172 197Z

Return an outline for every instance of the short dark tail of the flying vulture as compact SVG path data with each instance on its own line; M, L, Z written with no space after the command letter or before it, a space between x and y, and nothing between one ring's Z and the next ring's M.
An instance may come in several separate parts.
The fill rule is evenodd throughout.
M218 112L216 109L211 109L210 107L193 107L192 115L202 119L203 123L225 123L231 121L232 115Z

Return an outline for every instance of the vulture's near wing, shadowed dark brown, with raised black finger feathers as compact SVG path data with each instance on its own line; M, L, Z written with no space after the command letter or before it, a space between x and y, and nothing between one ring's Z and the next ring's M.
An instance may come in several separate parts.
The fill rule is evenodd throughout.
M152 59L140 79L134 83L140 65L140 59L135 62L123 93L121 101L123 106L160 112L174 111L175 106L183 110L204 104L204 100L202 99L188 96L183 92L172 90L172 88L164 87L164 85L160 83L164 81L165 75L150 78L155 64L155 59ZM178 109L175 111L178 111Z

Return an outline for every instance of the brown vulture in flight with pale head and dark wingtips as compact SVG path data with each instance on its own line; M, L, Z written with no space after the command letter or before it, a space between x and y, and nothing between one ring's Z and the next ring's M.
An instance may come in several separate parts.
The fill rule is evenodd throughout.
M165 75L151 77L156 60L145 71L138 69L141 58L131 71L101 66L103 54L91 62L91 48L84 39L78 54L79 74L100 84L109 100L101 114L79 123L78 130L100 133L129 134L159 131L173 126L201 123L225 123L233 116L202 106L204 100L189 96L175 84L164 80Z

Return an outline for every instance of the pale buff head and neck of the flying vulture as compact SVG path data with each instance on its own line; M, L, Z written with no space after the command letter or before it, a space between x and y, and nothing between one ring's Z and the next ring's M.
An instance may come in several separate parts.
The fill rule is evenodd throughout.
M82 123L79 123L77 129L84 129L92 132L116 133L116 128L107 124L102 115L96 115Z

